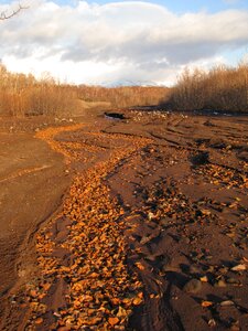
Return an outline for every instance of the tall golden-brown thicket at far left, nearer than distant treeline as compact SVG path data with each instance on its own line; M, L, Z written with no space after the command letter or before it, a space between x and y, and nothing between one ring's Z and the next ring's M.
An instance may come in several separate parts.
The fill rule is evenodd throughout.
M0 115L31 116L69 114L75 107L76 92L71 86L47 77L9 73L0 66Z

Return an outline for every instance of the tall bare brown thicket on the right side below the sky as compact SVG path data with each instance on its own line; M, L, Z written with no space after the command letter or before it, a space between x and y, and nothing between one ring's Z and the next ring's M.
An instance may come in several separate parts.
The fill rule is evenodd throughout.
M248 65L185 70L173 88L171 105L181 110L248 111Z

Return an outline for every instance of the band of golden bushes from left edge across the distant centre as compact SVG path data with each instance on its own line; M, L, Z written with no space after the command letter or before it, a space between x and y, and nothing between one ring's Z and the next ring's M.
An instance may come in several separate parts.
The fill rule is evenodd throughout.
M50 75L13 74L0 65L0 116L69 115L86 103L107 102L112 108L159 105L169 88L155 86L74 86L55 82Z

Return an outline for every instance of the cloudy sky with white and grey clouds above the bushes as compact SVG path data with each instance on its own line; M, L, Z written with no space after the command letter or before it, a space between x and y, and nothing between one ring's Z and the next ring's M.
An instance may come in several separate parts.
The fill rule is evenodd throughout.
M21 0L0 21L11 71L76 84L172 84L185 66L237 64L248 53L247 0ZM0 11L14 9L0 0Z

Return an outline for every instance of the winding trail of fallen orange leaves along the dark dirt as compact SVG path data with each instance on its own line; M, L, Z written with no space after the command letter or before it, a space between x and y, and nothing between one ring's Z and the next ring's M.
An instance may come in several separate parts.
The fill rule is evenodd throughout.
M50 128L37 137L62 152L68 164L78 146L61 143L54 136L80 127ZM116 138L111 135L110 139ZM63 211L36 235L41 276L26 289L28 330L127 330L133 307L143 302L142 284L126 263L126 215L111 197L105 178L148 140L121 138L129 140L128 147L114 150L107 161L77 174ZM54 231L58 222L65 222L64 235ZM60 285L63 298L51 308L56 301L54 286Z

